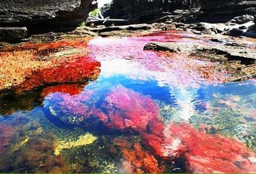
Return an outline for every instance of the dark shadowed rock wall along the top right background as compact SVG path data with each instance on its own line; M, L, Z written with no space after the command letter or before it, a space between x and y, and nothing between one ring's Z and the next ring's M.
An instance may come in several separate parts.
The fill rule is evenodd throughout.
M157 19L163 12L174 10L199 10L200 20L227 22L243 14L256 14L254 0L114 0L102 8L104 17L127 19L131 23Z

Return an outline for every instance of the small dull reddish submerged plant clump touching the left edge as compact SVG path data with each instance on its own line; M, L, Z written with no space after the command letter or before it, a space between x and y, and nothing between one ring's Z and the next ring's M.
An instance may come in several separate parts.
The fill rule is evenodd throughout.
M0 124L0 153L4 151L5 146L14 133L14 128L10 125Z

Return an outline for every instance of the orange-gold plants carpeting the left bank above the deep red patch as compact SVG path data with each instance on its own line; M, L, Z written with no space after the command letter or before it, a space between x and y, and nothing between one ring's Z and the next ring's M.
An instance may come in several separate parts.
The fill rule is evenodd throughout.
M31 71L56 67L62 62L73 61L75 57L87 55L87 42L89 40L90 38L39 44L25 43L21 46L1 49L0 89L20 85ZM69 58L37 59L39 56L49 55L64 47L79 49L80 53L76 53L75 56L69 56Z

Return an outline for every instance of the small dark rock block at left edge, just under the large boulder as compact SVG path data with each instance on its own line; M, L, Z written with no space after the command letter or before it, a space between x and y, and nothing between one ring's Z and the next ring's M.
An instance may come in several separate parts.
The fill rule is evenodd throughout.
M25 27L1 27L0 28L0 41L19 42L27 37L27 28Z

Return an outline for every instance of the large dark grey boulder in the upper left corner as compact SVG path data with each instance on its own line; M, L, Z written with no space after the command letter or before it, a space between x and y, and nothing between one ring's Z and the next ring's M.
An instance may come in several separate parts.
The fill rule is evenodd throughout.
M75 27L96 8L93 0L0 0L0 26Z

